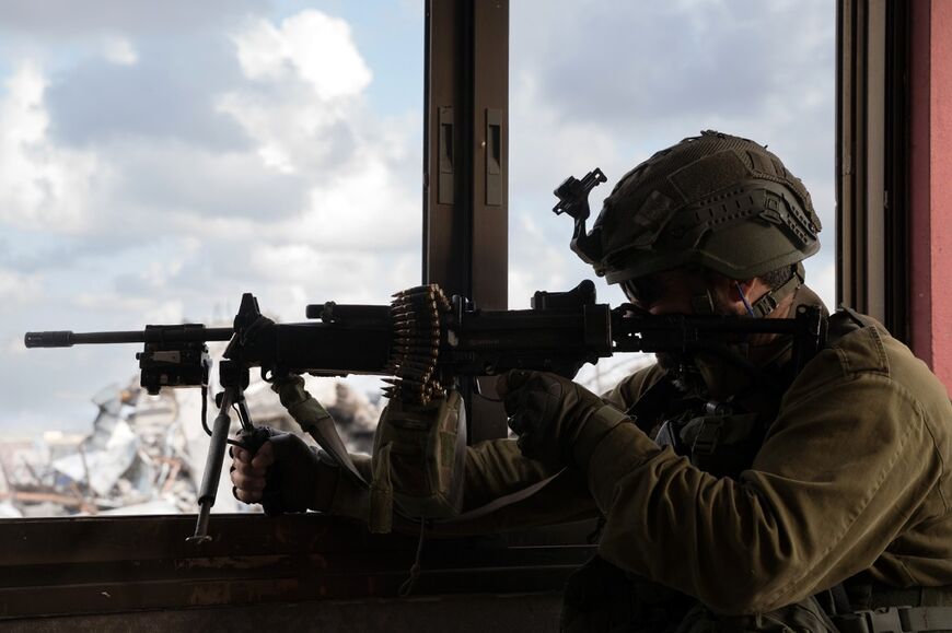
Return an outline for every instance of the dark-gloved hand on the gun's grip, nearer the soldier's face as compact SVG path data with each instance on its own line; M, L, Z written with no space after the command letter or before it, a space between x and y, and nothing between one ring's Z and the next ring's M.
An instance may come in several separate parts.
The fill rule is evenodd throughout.
M524 456L549 468L588 465L574 445L592 414L605 406L601 398L556 374L522 370L502 374L496 391Z

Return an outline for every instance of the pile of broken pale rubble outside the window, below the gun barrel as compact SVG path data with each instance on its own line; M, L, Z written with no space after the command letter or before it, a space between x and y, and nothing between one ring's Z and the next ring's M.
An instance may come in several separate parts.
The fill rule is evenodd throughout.
M307 380L338 422L348 449L370 452L380 403L341 380ZM253 378L245 399L255 424L301 434L313 444L260 379ZM102 389L92 401L97 412L86 435L0 439L0 518L196 512L208 449L201 391L163 389L149 396L137 377L126 387ZM208 402L209 424L216 414ZM232 435L239 430L235 420ZM228 468L222 470L214 512L260 512L234 500Z

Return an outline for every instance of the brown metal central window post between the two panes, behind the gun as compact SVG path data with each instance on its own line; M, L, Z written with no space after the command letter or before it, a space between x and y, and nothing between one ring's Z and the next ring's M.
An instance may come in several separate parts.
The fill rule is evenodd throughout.
M428 0L426 37L423 282L506 309L509 2ZM471 442L504 436L501 408L462 390Z

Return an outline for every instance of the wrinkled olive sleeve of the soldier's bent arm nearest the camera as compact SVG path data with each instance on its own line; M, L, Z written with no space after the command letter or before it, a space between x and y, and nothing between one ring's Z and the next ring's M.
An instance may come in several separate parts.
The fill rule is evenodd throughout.
M602 555L729 614L770 611L870 567L942 464L882 343L854 343L857 353L826 350L801 373L738 481L698 470L634 424L616 427L589 469L607 516Z

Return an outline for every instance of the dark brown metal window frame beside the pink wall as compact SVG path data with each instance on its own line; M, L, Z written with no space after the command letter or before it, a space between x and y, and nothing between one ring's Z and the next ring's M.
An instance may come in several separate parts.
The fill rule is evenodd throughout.
M909 340L910 4L837 3L837 303Z

